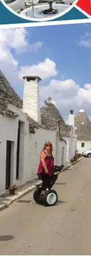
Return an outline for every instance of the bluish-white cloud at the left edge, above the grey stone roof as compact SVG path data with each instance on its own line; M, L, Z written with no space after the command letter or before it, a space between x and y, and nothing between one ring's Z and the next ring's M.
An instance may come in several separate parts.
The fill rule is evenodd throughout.
M0 68L4 72L9 81L18 82L19 62L17 55L22 52L36 52L43 42L33 42L30 44L27 39L27 30L24 27L16 29L1 29L0 30Z

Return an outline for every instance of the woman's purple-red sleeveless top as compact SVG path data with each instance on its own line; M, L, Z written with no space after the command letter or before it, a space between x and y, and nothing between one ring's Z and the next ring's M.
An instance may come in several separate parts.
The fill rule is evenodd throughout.
M45 152L45 154L46 154L46 152ZM49 156L49 155L46 154L45 164L46 164L46 167L48 169L48 174L50 176L52 176L53 175L53 168L54 168L54 157L53 157L53 155ZM45 169L43 168L43 166L41 164L41 160L40 160L40 163L38 165L38 172L37 172L37 174L45 174Z

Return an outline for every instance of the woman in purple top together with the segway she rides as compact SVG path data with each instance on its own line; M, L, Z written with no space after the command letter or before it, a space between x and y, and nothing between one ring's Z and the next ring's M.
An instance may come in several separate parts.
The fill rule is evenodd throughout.
M37 185L33 193L35 202L46 206L55 205L58 200L57 192L51 188L56 182L56 179L58 179L56 172L60 172L61 167L54 165L52 151L53 145L50 141L46 142L40 153L40 163L37 172L38 178L42 180L42 184Z

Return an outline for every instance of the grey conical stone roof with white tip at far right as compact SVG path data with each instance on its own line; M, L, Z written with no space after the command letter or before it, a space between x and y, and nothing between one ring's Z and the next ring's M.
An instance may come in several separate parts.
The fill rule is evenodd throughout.
M78 140L91 140L91 122L84 109L75 117L75 132Z

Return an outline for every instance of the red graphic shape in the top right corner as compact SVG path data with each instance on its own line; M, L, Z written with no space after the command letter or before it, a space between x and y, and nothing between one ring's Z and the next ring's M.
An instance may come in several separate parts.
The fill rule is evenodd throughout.
M91 16L91 0L79 0L76 5Z

